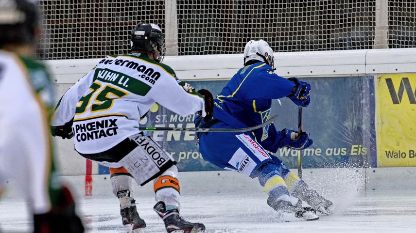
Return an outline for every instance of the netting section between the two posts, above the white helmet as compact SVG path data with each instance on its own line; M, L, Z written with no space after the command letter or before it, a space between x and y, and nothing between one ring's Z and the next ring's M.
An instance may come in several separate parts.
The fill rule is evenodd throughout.
M375 0L179 2L180 54L241 53L250 39L279 52L373 45Z

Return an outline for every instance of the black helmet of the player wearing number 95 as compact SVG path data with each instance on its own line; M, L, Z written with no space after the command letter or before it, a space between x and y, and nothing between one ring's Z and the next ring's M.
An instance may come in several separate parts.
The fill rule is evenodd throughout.
M159 26L153 23L139 23L131 32L131 50L156 51L156 62L165 56L165 38Z

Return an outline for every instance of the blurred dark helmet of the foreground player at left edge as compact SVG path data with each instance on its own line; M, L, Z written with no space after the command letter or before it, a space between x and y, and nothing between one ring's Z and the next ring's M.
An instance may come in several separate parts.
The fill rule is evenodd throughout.
M28 0L0 0L0 47L34 44L40 25L38 6Z

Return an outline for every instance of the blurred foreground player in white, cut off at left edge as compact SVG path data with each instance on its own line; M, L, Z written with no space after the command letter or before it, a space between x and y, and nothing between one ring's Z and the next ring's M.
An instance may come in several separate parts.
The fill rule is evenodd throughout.
M83 233L72 195L55 168L50 76L32 58L39 15L26 0L0 0L0 189L6 178L15 178L22 192L13 195L26 198L35 233ZM21 218L15 220L17 227Z

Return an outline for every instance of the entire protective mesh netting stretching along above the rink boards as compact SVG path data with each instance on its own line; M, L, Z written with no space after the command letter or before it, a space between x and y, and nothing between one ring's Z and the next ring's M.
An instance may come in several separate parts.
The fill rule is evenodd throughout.
M415 0L40 0L40 6L44 59L126 53L138 22L164 32L165 24L177 24L166 40L179 55L242 53L251 39L277 52L416 47Z

